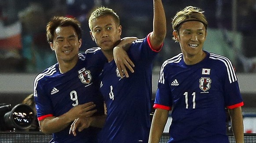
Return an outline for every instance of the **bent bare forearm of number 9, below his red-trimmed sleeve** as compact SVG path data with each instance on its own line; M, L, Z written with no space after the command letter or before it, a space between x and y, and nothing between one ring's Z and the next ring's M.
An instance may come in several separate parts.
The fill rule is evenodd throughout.
M47 117L39 121L39 124L43 133L52 134L62 131L68 127L71 122L73 122L73 120L63 114L59 117Z

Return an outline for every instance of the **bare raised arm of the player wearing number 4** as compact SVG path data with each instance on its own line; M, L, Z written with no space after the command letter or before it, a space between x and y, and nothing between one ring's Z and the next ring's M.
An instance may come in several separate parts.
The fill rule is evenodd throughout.
M153 32L150 34L150 43L154 50L159 50L166 35L165 10L162 0L154 0Z

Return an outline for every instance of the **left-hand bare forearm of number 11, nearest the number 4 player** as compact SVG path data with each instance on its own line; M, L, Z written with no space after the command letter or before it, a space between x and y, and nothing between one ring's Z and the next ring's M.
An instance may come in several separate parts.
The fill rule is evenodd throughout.
M168 110L156 109L150 128L149 143L159 143L167 119Z

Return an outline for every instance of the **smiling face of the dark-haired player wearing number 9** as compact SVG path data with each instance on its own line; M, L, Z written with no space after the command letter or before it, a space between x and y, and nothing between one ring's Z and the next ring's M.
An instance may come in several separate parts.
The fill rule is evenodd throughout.
M72 26L58 27L55 29L53 43L50 43L59 63L77 61L81 39Z

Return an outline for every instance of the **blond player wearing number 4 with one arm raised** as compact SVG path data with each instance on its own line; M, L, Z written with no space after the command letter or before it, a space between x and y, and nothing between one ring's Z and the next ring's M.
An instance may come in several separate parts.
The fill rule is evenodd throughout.
M113 47L121 37L117 14L99 7L89 18L92 39L108 59L101 74L100 89L106 102L107 117L99 143L147 143L150 131L152 63L166 35L165 11L161 0L154 1L153 31L128 49L135 64L134 73L123 78L113 60ZM123 69L125 70L125 69ZM82 120L77 123L82 126ZM79 127L77 126L77 127ZM76 128L75 128L76 129Z

